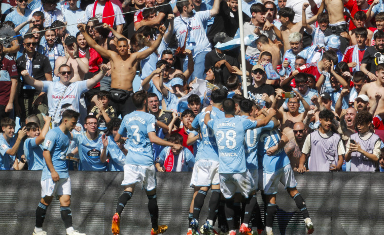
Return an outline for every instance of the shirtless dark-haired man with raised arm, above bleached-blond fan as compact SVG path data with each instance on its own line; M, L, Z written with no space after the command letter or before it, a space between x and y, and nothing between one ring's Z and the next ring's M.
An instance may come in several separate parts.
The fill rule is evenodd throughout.
M282 27L280 30L284 42L284 51L291 49L288 37L292 32L300 32L302 35L305 28L308 33L312 33L312 27L310 25L312 23L315 23L315 21L317 20L318 15L322 12L322 9L324 8L322 6L320 7L318 14L307 20L305 10L309 7L309 3L304 3L302 21L299 21L297 23L293 22L295 12L291 8L282 8L280 11L278 11L280 21L282 22Z

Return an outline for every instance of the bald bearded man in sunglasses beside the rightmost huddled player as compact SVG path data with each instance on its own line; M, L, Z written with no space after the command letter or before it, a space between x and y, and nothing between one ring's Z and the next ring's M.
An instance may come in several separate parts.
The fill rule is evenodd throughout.
M307 128L305 127L304 123L295 122L293 125L293 134L295 137L289 140L289 142L284 147L284 150L288 155L293 171L297 172L301 156L301 149L303 148L303 144L307 136Z

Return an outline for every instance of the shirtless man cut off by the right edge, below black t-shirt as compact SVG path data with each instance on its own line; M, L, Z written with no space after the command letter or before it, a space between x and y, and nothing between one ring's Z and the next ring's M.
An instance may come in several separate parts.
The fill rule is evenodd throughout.
M369 103L376 103L376 93L384 94L384 64L379 63L376 66L377 80L363 85L359 95L365 94L369 98ZM384 112L384 96L378 100L375 115Z

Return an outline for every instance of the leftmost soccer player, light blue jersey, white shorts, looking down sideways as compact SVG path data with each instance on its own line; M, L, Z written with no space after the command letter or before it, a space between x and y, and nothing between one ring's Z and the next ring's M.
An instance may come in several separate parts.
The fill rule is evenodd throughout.
M79 113L73 110L65 110L62 114L60 125L48 131L44 141L45 165L41 176L41 200L36 209L36 225L33 235L47 234L43 231L43 222L48 206L54 196L60 200L61 219L64 221L66 234L85 235L74 230L72 226L71 205L71 179L69 179L68 166L65 153L69 147L71 131L79 118Z

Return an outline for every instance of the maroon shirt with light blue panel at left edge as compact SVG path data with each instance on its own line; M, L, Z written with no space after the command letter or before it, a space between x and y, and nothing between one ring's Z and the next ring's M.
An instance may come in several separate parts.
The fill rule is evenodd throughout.
M0 105L8 105L9 96L11 94L11 79L18 77L16 62L8 55L0 60Z

